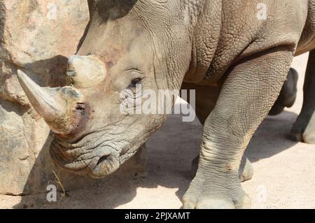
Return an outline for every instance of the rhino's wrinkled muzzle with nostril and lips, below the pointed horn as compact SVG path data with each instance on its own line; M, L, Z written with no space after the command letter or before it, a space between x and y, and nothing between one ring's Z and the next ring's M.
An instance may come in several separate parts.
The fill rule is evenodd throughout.
M65 145L57 139L52 142L50 155L54 163L68 172L91 178L103 178L115 172L133 154L127 147L118 152L109 145L98 145L92 149L86 146L69 148Z

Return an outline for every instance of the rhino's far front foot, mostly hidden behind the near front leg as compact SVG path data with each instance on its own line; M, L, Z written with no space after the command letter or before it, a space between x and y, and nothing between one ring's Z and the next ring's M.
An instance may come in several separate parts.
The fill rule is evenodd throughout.
M195 178L198 169L199 156L193 159L190 169L191 178ZM239 167L239 180L244 182L253 178L253 165L246 157L241 160L241 166Z

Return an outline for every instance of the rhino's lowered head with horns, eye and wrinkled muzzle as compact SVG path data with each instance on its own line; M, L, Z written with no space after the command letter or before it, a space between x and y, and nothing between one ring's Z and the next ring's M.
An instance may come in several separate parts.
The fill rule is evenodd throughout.
M180 89L192 52L184 2L90 0L89 29L77 55L69 57L68 86L39 87L18 71L31 105L55 133L55 164L102 178L165 121L165 114L122 113L120 93L135 92L136 85Z

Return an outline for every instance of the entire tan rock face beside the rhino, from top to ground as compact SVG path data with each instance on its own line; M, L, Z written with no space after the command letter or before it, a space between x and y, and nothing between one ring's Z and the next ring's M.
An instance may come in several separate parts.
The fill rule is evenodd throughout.
M55 168L50 130L16 76L22 69L41 86L64 85L67 57L88 20L86 0L0 0L0 194L44 192L55 179L52 171L68 190L100 182ZM125 169L139 172L143 160L139 154Z

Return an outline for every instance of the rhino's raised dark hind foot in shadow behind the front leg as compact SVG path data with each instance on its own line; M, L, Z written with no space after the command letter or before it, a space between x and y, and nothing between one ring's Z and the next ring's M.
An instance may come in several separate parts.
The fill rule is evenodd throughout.
M279 115L283 112L284 108L293 106L297 96L297 80L298 73L295 69L291 68L278 99L276 99L274 106L272 106L272 109L269 111L269 115Z

